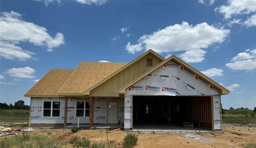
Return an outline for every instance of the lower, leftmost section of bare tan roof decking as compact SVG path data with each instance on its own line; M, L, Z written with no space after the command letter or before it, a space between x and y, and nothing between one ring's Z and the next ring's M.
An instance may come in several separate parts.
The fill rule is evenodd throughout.
M73 71L74 69L51 69L24 96L58 95L58 91Z

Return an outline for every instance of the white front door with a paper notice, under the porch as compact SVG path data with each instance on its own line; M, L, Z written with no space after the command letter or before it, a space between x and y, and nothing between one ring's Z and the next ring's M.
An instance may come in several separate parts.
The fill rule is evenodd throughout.
M108 123L116 123L117 102L108 102Z

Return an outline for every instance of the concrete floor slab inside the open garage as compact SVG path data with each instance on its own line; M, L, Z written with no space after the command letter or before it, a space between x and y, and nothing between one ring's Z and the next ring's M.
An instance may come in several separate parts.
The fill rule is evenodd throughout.
M209 132L211 129L202 127L184 128L177 124L165 124L165 123L134 123L133 131L172 131L172 132Z

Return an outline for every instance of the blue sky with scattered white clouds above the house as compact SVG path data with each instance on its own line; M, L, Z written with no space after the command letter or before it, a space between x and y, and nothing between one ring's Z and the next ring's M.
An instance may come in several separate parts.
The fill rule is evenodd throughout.
M177 55L230 90L223 108L256 106L255 1L0 1L1 102L51 68Z

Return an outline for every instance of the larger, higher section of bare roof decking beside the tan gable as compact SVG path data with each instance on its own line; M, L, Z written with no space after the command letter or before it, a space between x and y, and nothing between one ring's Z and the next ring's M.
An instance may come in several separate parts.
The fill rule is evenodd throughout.
M127 63L80 62L58 93L83 93L126 64Z

